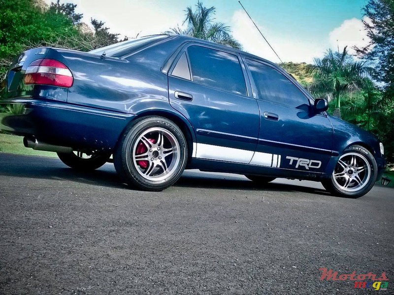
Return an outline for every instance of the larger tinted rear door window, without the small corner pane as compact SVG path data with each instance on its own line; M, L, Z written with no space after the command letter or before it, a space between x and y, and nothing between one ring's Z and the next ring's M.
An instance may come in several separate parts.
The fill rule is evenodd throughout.
M193 81L246 95L245 80L236 55L201 46L188 48Z

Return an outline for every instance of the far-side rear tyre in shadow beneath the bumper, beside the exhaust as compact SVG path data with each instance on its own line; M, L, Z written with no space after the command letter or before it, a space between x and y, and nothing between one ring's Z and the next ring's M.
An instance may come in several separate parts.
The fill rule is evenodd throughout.
M86 154L79 151L73 151L71 153L58 152L58 156L59 159L70 168L80 171L89 171L104 165L111 156L111 153L92 152L91 154Z

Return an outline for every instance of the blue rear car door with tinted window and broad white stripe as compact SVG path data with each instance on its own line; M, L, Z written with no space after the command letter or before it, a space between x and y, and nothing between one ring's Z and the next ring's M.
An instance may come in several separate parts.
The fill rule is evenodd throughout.
M178 54L168 75L169 101L194 127L194 157L252 159L260 112L245 75L239 55L230 51L191 44Z

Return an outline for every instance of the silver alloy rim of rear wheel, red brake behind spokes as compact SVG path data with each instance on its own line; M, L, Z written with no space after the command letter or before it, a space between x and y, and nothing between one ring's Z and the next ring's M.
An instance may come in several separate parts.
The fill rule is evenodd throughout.
M168 130L160 127L145 130L135 141L132 160L138 173L150 181L164 181L178 167L179 143Z

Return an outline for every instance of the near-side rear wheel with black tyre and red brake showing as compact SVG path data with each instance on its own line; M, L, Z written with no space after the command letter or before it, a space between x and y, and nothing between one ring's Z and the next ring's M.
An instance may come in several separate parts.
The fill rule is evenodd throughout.
M188 150L179 127L162 117L137 119L114 153L119 176L131 186L161 191L174 184L186 167Z

